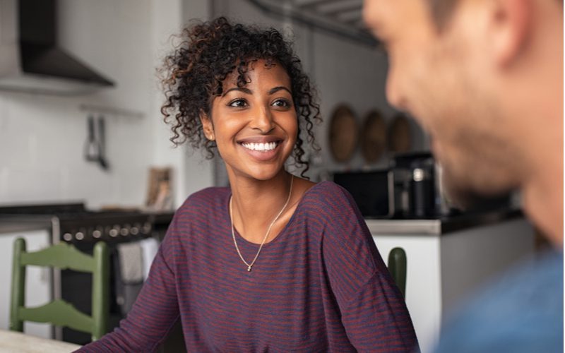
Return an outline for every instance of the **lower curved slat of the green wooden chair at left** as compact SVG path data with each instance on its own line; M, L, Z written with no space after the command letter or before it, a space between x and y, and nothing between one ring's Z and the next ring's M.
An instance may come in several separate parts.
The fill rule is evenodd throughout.
M90 332L93 329L93 318L81 313L72 304L61 299L33 308L20 307L18 315L23 321L53 323L84 332Z

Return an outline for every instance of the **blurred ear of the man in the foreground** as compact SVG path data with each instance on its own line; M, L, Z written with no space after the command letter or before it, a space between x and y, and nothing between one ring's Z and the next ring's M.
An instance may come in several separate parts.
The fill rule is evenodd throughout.
M507 66L528 45L534 25L532 0L494 0L490 4L492 50L496 61Z

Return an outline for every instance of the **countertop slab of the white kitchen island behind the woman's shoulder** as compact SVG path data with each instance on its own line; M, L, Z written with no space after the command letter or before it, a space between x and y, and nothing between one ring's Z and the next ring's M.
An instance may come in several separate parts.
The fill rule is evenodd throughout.
M521 210L494 210L484 213L466 213L435 220L365 219L371 234L406 234L444 236L472 227L494 225L522 217Z

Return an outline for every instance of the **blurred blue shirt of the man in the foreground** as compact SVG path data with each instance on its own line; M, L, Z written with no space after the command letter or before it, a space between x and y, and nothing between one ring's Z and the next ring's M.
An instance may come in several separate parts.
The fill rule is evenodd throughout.
M563 252L490 285L446 321L435 352L563 352Z

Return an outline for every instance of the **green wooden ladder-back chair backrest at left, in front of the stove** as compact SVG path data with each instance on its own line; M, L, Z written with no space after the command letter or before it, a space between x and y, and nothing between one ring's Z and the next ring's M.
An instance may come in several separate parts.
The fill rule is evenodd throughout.
M78 311L72 304L57 299L42 306L25 307L25 266L37 265L71 269L93 274L92 316ZM23 332L23 322L52 323L90 333L93 340L107 331L109 316L109 253L104 242L94 246L93 256L78 251L75 246L59 243L35 252L25 251L25 240L13 244L10 330Z

